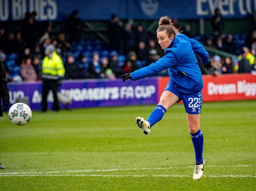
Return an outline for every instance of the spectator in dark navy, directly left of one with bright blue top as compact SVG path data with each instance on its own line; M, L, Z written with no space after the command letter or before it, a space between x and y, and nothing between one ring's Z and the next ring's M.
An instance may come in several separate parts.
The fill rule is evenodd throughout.
M78 60L76 61L76 66L78 68L78 74L77 77L78 79L86 79L89 78L89 73L88 73L88 63L87 63L87 58L83 54L79 54Z

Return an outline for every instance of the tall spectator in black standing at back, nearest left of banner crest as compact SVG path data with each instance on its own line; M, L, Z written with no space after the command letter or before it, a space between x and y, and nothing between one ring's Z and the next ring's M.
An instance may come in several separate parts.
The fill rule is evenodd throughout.
M110 41L110 49L121 50L122 49L122 23L119 22L119 18L116 15L111 16L111 21L108 26L108 34Z

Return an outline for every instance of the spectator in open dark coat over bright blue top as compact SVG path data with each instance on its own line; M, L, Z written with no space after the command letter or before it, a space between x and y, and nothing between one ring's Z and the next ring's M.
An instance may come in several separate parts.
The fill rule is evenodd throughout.
M89 74L91 78L105 78L106 75L104 71L101 68L101 65L99 63L99 55L95 53L92 56L92 62L89 63Z

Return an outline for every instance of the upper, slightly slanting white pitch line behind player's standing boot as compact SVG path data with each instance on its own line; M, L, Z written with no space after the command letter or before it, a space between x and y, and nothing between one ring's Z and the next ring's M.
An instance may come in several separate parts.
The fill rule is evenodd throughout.
M250 167L255 165L206 165L206 168L211 167ZM173 169L173 168L194 168L194 166L187 167L156 167L156 168L114 168L114 169L95 169L95 170L67 170L67 171L51 171L51 172L5 172L1 175L37 175L37 174L54 174L54 173L73 173L73 172L113 172L113 171L130 171L130 170L161 170L161 169Z

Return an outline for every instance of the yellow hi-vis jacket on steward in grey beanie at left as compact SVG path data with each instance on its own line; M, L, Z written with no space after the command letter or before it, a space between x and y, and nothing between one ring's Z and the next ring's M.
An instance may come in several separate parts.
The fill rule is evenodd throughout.
M61 57L53 52L51 58L46 56L42 62L42 78L45 79L59 79L62 78L65 74L65 68Z

